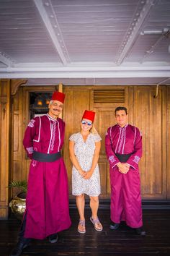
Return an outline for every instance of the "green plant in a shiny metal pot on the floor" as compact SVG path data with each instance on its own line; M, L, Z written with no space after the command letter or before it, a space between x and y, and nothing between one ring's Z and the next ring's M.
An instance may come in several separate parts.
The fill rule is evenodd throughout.
M19 220L22 220L26 208L27 181L13 181L9 183L9 187L17 188L17 195L9 202L9 207L12 209L12 213L14 213Z

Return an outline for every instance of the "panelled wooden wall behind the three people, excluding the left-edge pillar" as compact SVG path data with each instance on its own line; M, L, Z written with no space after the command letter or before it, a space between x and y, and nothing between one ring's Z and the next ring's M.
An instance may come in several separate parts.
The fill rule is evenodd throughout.
M94 103L93 90L125 88L125 103ZM166 89L166 90L165 90ZM23 94L16 96L21 106L14 108L14 123L20 127L14 128L14 162L13 175L17 179L27 178L30 160L26 158L22 147L24 129L29 120L28 96L30 91L48 90L49 87L24 87ZM50 88L54 90L54 87ZM71 196L71 161L68 152L68 139L74 132L79 132L79 122L85 109L94 109L97 112L94 124L102 137L102 148L99 157L99 168L101 172L102 195L100 198L109 199L109 164L105 155L104 137L107 128L115 124L115 108L126 106L129 111L129 123L133 124L143 133L143 158L140 161L141 191L143 199L166 199L170 197L170 161L166 153L170 152L169 146L169 119L166 115L170 112L170 89L161 86L158 98L153 98L156 93L155 86L65 86L66 102L63 110L63 119L66 121L66 136L63 147L63 157L68 171L69 191ZM21 96L22 95L22 96ZM23 104L24 102L24 104ZM166 114L167 106L167 114ZM19 109L22 108L22 111ZM16 142L18 140L19 142ZM19 148L20 147L20 148ZM166 151L167 150L167 151ZM19 160L20 159L20 160ZM22 162L22 164L21 164ZM166 169L167 163L167 169ZM167 176L167 179L166 179Z

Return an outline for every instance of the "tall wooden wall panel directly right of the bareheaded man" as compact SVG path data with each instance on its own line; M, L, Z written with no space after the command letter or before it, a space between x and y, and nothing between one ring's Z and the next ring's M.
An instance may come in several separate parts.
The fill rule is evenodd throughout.
M143 134L143 157L140 161L143 198L166 197L164 164L164 88L155 95L155 87L136 87L134 121ZM164 153L163 153L164 152Z

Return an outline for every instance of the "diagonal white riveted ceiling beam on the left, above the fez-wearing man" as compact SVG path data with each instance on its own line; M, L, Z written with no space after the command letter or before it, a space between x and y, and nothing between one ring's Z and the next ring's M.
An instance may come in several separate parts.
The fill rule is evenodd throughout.
M50 22L50 18L48 17L48 13L45 10L45 7L44 7L44 5L42 3L42 0L34 0L34 2L35 2L35 6L37 7L38 12L40 13L42 21L44 22L45 27L48 30L50 38L53 41L53 45L55 46L55 49L56 49L56 51L58 52L58 54L59 54L59 56L61 58L61 61L63 62L64 65L67 65L69 63L69 61L67 61L68 58L66 59L66 54L64 55L64 53L63 53L62 46L59 43L57 35L55 34L55 31L53 29L53 25ZM50 0L48 0L48 4L49 4L49 7L52 8ZM56 27L58 27L58 21L57 21L56 15L53 14L53 17L55 17L55 22L57 23ZM65 46L63 46L63 47L65 47Z

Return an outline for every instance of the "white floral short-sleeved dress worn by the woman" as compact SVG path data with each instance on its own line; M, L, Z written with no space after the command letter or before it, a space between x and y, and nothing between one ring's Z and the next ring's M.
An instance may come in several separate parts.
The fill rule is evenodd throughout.
M95 142L102 140L99 135L89 134L86 142L80 132L71 135L69 140L72 140L74 144L74 154L76 155L79 165L84 171L89 171L93 161ZM92 197L96 197L100 194L100 176L99 166L94 169L94 172L90 179L84 179L79 171L73 166L72 168L72 194L81 195L86 194Z

